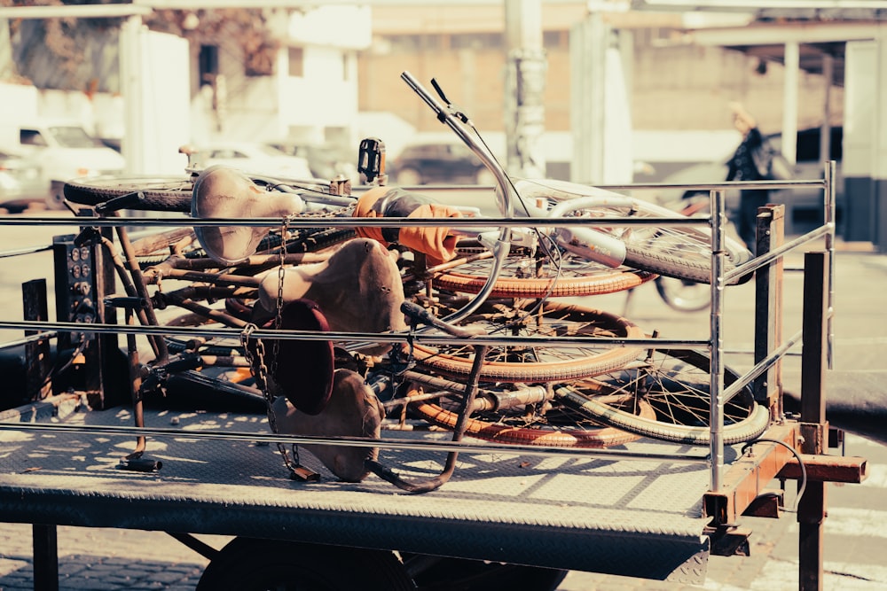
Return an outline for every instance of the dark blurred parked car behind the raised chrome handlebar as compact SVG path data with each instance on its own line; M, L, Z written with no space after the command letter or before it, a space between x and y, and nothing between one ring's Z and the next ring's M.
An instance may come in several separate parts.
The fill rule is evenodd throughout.
M481 159L456 142L407 145L389 163L388 174L400 185L496 184L495 176Z

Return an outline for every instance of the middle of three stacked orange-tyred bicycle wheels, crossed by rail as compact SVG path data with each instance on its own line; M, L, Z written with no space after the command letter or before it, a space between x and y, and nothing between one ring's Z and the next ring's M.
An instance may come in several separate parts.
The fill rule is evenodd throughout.
M532 337L643 338L630 321L589 307L546 301L538 310L485 303L466 323L481 323L488 334ZM561 382L622 367L642 354L637 346L491 346L481 369L486 382ZM416 362L444 376L466 377L474 346L414 346Z

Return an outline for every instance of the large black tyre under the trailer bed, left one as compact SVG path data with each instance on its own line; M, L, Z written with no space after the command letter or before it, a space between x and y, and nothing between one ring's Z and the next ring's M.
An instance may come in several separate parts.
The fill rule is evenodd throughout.
M408 591L415 589L392 552L235 538L219 550L197 591Z

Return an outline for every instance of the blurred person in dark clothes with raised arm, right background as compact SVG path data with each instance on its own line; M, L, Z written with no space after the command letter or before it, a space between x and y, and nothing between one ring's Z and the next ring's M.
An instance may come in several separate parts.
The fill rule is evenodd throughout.
M755 152L760 151L764 137L757 129L755 118L739 103L730 103L733 111L733 122L742 134L742 143L736 148L733 158L729 161L727 181L760 181L764 177L755 163ZM736 219L736 231L752 253L756 253L757 243L757 208L765 206L770 198L767 189L744 189L740 191L739 214Z

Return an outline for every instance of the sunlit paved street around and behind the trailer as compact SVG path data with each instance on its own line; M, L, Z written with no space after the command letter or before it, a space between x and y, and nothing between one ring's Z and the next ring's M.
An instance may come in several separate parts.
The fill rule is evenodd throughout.
M48 244L53 233L66 229L4 229L0 232L0 252L28 245ZM6 317L20 310L19 285L22 281L45 276L50 264L48 253L28 255L20 265L3 264L0 273L0 309ZM797 257L794 263L799 262ZM51 279L51 274L49 275ZM800 327L800 276L786 277L786 333ZM51 281L50 281L51 284ZM887 395L883 359L887 353L887 256L855 252L843 245L836 257L836 360L829 374L829 390L844 395L865 384L872 395ZM730 288L725 314L726 346L749 349L752 340L750 285ZM589 303L589 302L585 302ZM595 307L623 312L645 330L660 330L663 337L705 338L709 316L706 312L678 314L665 307L651 285L641 287L625 309L624 294L600 296ZM0 331L0 340L18 338ZM748 355L735 354L734 367L748 365ZM797 393L797 359L786 361L785 384ZM834 401L834 400L833 400ZM879 411L887 412L883 408ZM828 486L826 521L825 588L887 588L887 429L875 421L860 429L872 438L850 434L844 452L869 461L869 478L862 485ZM854 428L859 425L854 425ZM835 451L834 453L840 453ZM2 461L2 460L0 460ZM787 504L794 499L789 483ZM709 576L703 588L734 589L797 588L797 524L785 514L780 519L744 518L742 525L753 531L750 557L710 559ZM220 547L223 537L204 536ZM0 528L0 590L29 589L33 585L29 525L3 525ZM59 527L61 588L63 589L193 589L207 560L185 548L165 533L114 529ZM638 557L643 560L643 556ZM563 591L586 589L681 589L677 584L645 579L571 572L560 587ZM699 587L687 587L699 588Z

